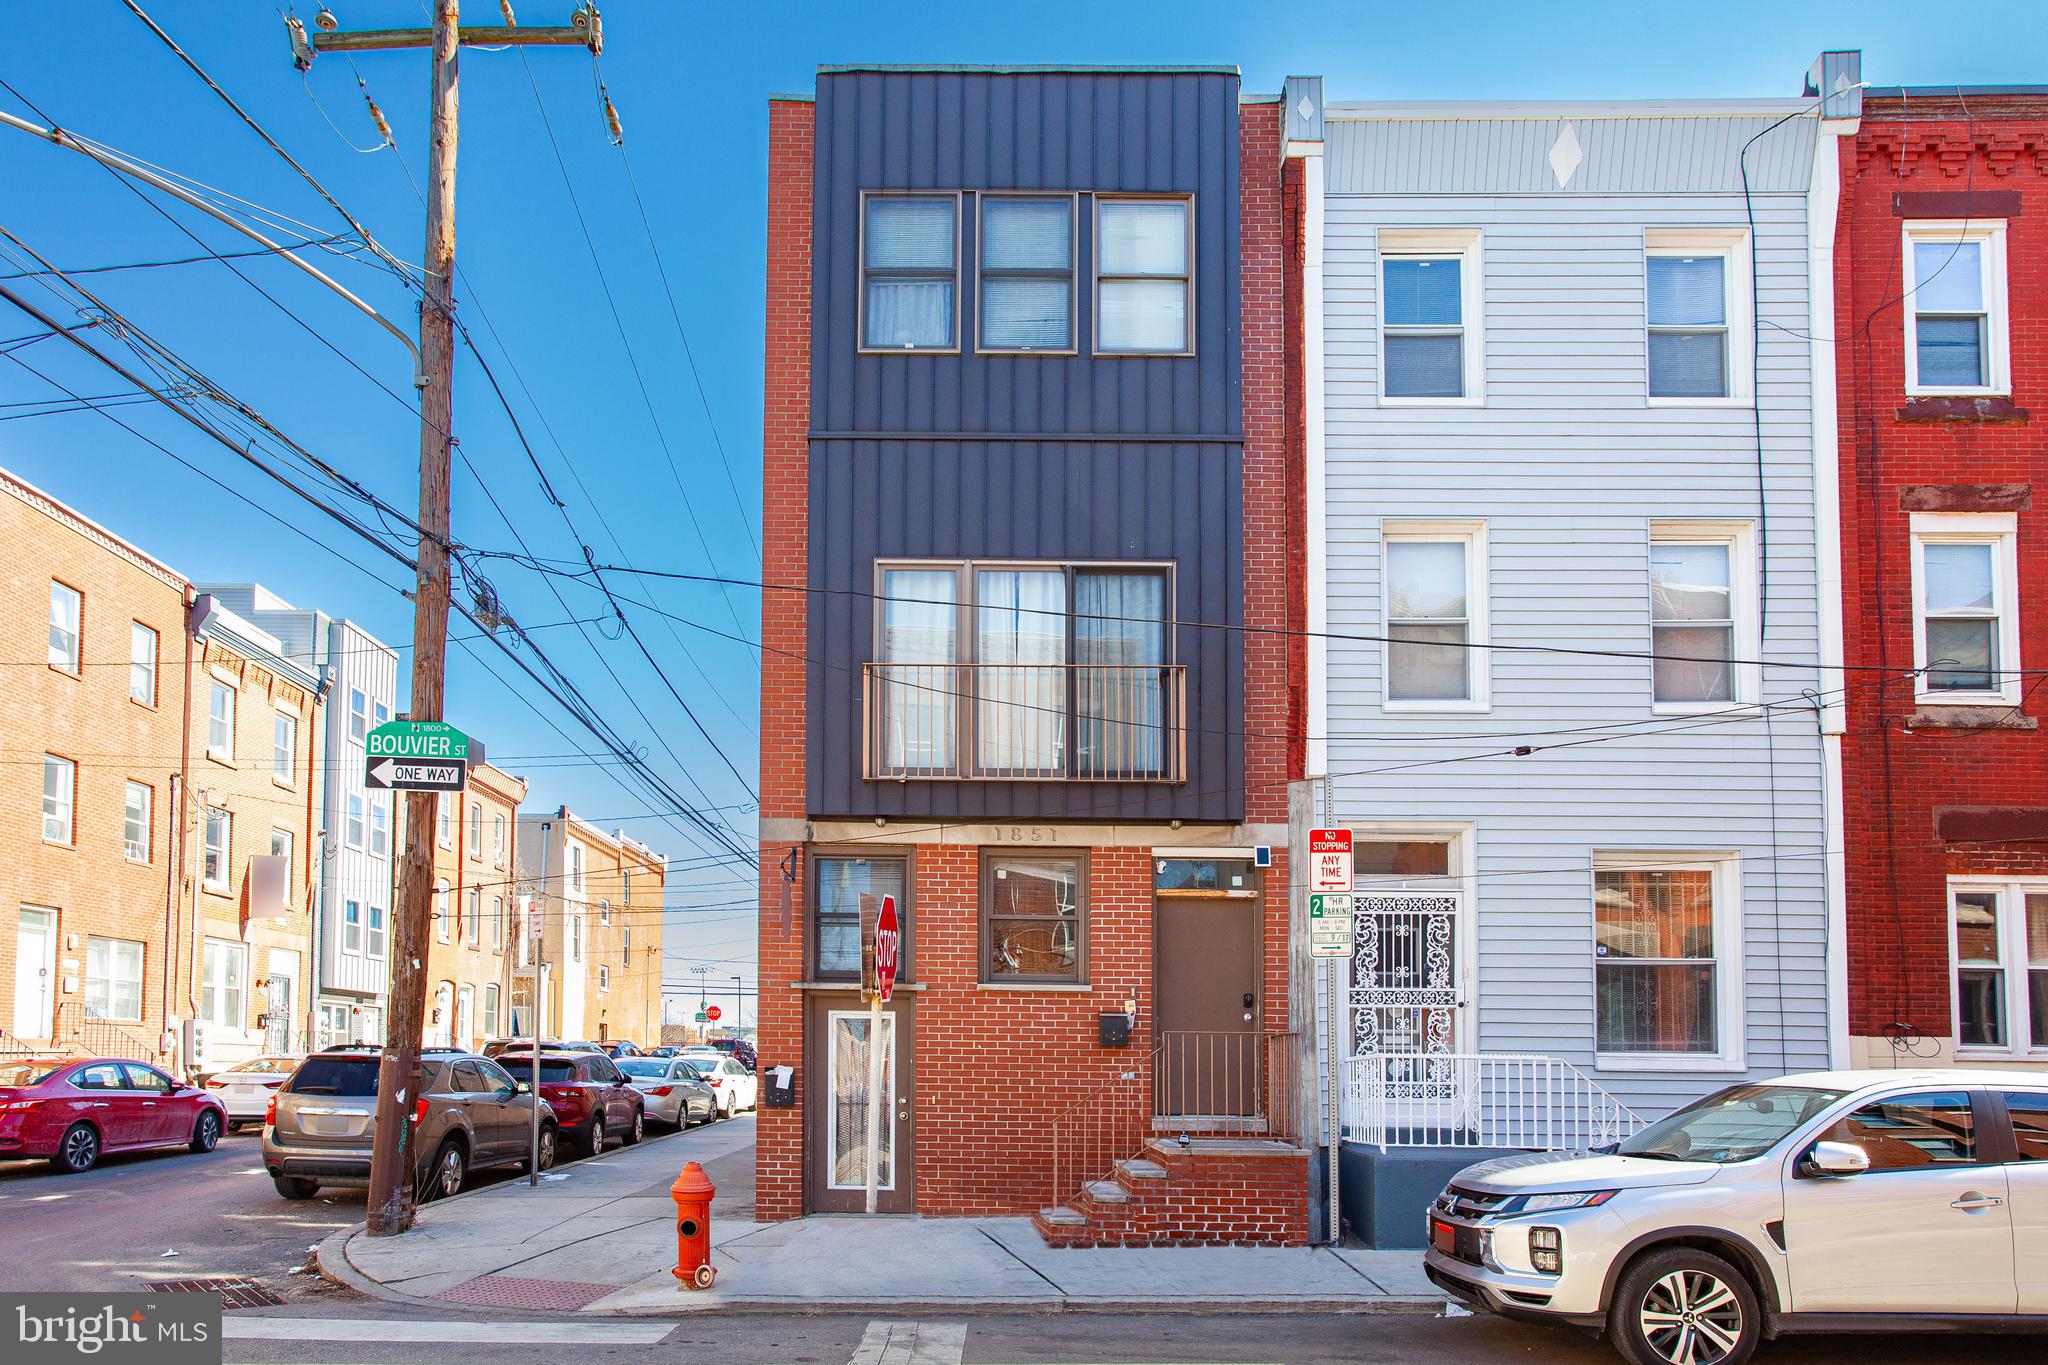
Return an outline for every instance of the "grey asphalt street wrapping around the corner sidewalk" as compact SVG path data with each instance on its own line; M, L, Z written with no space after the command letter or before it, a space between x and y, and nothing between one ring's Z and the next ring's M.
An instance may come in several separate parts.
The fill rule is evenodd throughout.
M735 1121L752 1128L752 1117ZM717 1130L657 1138L692 1160ZM725 1130L731 1134L731 1130ZM723 1146L723 1144L721 1144ZM725 1218L752 1214L752 1144L707 1162ZM481 1177L522 1179L518 1175ZM360 1191L276 1197L258 1138L207 1156L117 1156L86 1175L0 1164L0 1287L127 1289L150 1279L246 1275L283 1308L227 1314L236 1365L1606 1365L1587 1334L1485 1316L1038 1314L877 1320L868 1314L727 1314L700 1320L420 1312L305 1271L309 1248L362 1218ZM176 1257L166 1257L176 1250ZM905 1345L913 1340L913 1345ZM1831 1336L1765 1347L1759 1365L2034 1365L2042 1336Z

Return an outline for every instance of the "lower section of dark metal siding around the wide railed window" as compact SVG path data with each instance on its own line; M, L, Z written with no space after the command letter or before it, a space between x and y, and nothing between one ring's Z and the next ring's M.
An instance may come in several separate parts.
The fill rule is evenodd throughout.
M911 497L903 489L913 489ZM809 806L815 817L1243 817L1237 450L1225 444L852 442L811 446ZM1188 782L866 782L860 665L874 659L874 561L1171 561L1188 665Z

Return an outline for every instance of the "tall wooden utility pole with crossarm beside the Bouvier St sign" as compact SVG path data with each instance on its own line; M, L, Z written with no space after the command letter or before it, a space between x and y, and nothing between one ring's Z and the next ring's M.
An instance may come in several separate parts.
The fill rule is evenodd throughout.
M463 43L575 45L602 51L598 10L586 4L565 29L463 29L461 0L434 0L432 29L334 31L322 8L307 35L293 18L293 53L301 70L322 51L383 51L426 47L432 53L430 141L426 160L426 268L420 303L420 575L412 602L412 720L440 720L449 667L449 463L455 448L455 147L457 70ZM377 1130L371 1148L369 1234L395 1236L412 1226L418 1154L412 1113L418 1095L420 1027L426 1017L428 923L434 898L434 798L406 798L406 857L399 864L391 933L391 1019L377 1072ZM539 984L539 970L535 972ZM535 1050L539 1056L539 1050ZM539 1095L535 1095L539 1105Z

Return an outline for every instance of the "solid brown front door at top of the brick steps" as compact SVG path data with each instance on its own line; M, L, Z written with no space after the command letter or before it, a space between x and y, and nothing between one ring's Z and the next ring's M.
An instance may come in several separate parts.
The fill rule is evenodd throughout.
M1260 1111L1257 892L1153 898L1153 1113L1169 1128L1247 1132Z

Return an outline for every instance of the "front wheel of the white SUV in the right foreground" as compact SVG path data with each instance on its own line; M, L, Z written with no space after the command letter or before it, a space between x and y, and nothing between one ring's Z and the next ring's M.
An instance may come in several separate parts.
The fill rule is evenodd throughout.
M1608 1308L1608 1336L1630 1365L1743 1365L1761 1334L1743 1273L1692 1246L1640 1257Z

